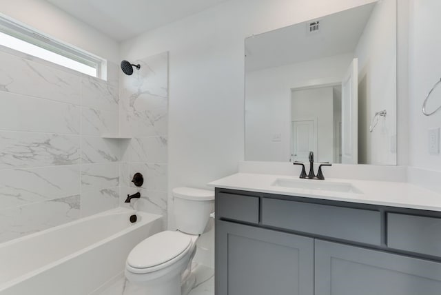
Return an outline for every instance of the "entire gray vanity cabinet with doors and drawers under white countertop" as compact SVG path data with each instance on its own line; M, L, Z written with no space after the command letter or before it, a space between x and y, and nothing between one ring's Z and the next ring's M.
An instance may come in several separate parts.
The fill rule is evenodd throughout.
M440 295L441 212L216 189L216 295Z

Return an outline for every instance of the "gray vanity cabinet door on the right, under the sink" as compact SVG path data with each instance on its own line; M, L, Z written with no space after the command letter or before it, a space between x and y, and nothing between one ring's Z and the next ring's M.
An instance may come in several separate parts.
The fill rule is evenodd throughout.
M316 240L316 295L439 295L441 263Z

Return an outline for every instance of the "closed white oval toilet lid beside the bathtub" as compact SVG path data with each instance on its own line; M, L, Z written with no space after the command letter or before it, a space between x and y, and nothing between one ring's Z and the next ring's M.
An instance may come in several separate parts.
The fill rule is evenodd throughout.
M191 236L182 232L159 232L136 245L127 257L127 264L135 268L160 265L184 252L191 241Z

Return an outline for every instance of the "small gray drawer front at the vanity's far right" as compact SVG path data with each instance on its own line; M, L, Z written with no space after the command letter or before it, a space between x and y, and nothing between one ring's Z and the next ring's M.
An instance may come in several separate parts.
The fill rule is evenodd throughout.
M441 218L388 213L387 246L441 256Z

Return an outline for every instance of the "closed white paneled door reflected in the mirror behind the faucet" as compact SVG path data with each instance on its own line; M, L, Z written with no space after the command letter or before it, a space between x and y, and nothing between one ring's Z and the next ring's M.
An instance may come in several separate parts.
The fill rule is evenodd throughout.
M315 132L315 121L316 120L311 119L292 122L292 154L294 161L307 162L310 151L317 154L317 134Z

